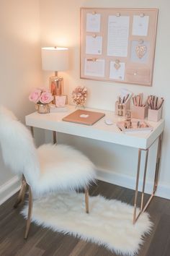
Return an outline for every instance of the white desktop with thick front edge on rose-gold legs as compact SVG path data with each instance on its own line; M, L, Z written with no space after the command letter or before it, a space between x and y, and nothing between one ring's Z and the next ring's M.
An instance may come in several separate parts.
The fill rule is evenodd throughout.
M96 108L85 108L89 111L99 111L105 113L105 116L92 126L76 124L62 121L64 116L75 111L75 106L68 106L66 112L56 112L50 114L38 114L34 112L25 117L26 124L30 127L38 127L56 132L63 132L69 135L76 135L94 140L102 140L119 145L125 145L133 148L147 149L158 138L164 130L164 120L158 122L147 121L153 127L153 131L147 132L129 132L123 133L117 127L116 122L122 121L125 117L116 116L113 111L105 111ZM114 124L107 125L104 119L111 119Z

